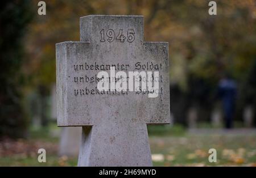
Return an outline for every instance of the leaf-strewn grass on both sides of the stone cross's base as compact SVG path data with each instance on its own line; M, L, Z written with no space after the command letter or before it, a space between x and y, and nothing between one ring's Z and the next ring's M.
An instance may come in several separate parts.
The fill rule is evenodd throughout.
M59 139L54 133L59 131L55 126L32 129L29 139L0 142L0 166L76 166L77 158L57 156ZM154 166L256 166L255 132L193 133L181 126L152 125L148 133ZM46 163L37 160L40 147L47 151ZM212 148L217 163L208 162Z

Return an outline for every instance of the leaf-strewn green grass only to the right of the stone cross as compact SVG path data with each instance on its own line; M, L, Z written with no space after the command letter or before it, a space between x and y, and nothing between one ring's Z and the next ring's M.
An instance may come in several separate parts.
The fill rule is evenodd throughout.
M255 135L191 135L151 137L155 166L255 166ZM216 149L217 163L209 163L208 150ZM154 159L155 156L155 159Z

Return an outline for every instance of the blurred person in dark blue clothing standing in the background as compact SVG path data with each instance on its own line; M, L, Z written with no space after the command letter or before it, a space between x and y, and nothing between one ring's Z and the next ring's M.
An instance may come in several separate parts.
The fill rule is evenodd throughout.
M218 97L222 100L225 128L233 127L233 117L236 104L237 84L228 74L218 83Z

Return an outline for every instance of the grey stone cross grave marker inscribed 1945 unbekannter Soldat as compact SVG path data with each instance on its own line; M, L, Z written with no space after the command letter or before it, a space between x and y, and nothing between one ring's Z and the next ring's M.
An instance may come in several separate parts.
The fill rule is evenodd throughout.
M168 43L143 38L143 16L89 15L80 18L80 41L56 44L57 125L82 126L78 166L152 166L147 124L170 123L169 57ZM107 77L97 74L111 76L110 67L127 76L158 71L158 95L142 84L99 91Z

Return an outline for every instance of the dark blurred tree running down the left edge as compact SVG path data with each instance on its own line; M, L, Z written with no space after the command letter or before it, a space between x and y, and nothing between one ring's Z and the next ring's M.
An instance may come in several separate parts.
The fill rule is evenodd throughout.
M17 138L26 134L20 66L22 37L32 16L30 7L30 1L3 1L0 6L0 137Z

